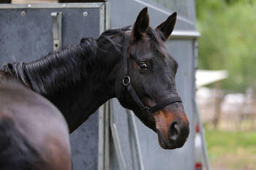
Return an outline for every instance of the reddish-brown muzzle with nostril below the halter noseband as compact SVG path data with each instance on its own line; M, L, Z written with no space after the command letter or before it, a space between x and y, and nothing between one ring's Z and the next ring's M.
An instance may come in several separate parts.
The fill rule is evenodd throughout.
M181 103L171 104L154 114L159 144L164 149L182 147L189 136L189 120Z

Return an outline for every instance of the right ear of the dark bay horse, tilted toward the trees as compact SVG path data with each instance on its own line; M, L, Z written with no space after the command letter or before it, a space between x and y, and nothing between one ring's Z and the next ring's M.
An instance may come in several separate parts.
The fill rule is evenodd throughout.
M172 15L170 15L165 22L161 23L157 28L155 29L159 36L161 37L162 41L166 41L170 34L173 32L174 26L176 24L176 18L177 18L177 12L173 12Z

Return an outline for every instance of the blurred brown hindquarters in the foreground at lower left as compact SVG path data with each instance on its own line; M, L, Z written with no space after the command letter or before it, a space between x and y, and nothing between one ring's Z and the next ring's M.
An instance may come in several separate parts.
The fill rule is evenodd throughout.
M69 131L47 99L16 80L0 81L0 169L71 169Z

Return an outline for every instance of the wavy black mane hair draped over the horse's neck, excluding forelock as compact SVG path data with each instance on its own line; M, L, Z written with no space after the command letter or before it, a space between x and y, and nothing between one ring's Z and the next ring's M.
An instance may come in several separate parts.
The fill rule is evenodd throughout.
M71 45L30 63L7 63L2 72L18 78L37 93L51 93L86 78L94 65L97 42L83 38L80 44Z

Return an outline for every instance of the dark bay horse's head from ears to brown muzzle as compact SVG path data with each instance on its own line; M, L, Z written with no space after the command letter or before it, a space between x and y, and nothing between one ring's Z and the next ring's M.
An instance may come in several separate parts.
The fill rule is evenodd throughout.
M165 149L182 147L189 135L184 107L180 100L172 101L172 98L179 98L175 83L178 63L164 44L173 31L176 16L174 12L152 29L147 8L140 11L132 30L127 32L127 51L124 47L122 69L116 77L116 96L121 105L132 109L145 125L156 131L159 144ZM134 92L125 87L128 83ZM134 97L136 95L138 97ZM156 105L154 112L143 110L143 106L156 109Z

